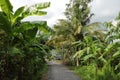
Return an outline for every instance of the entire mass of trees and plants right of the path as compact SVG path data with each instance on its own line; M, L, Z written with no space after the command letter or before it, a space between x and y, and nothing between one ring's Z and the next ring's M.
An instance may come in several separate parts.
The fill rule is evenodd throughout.
M54 25L48 44L55 45L63 62L82 80L120 79L120 14L113 22L89 23L92 0L70 0L66 19Z

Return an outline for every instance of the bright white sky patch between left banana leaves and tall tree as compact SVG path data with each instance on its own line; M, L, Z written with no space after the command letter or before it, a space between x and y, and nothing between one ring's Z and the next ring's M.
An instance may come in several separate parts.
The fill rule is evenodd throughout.
M65 11L66 8L66 3L69 2L69 0L11 0L13 6L14 6L14 11L24 5L32 5L35 3L39 2L51 2L51 6L47 9L45 9L48 13L45 16L42 17L29 17L25 20L47 20L48 25L52 26L53 23L57 21L57 19L62 19L65 18L63 15L63 12Z

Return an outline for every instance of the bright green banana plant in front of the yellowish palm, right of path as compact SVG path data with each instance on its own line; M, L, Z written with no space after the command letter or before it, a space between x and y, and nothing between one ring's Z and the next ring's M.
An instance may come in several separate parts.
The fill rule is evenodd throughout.
M73 58L79 58L82 62L90 64L98 63L98 58L102 55L104 44L99 40L93 40L91 36L84 36L84 41L73 43L73 46L79 47L79 50L73 55Z

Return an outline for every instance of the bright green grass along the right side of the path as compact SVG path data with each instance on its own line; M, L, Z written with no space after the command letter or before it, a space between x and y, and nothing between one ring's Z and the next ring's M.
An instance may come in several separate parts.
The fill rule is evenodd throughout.
M94 65L70 67L82 80L120 80L120 73L115 74L111 66L96 69Z

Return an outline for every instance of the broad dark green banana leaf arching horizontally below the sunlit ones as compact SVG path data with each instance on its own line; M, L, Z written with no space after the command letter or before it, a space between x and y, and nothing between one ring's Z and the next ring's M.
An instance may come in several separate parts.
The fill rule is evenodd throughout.
M14 28L13 32L15 36L22 33L24 38L33 39L36 37L38 30L44 33L50 32L46 21L22 22L19 27Z

